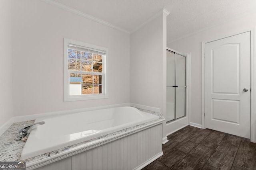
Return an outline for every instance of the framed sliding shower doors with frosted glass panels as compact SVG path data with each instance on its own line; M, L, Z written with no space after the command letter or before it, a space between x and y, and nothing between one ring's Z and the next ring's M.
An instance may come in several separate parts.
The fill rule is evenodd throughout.
M167 49L166 121L186 116L186 56Z

